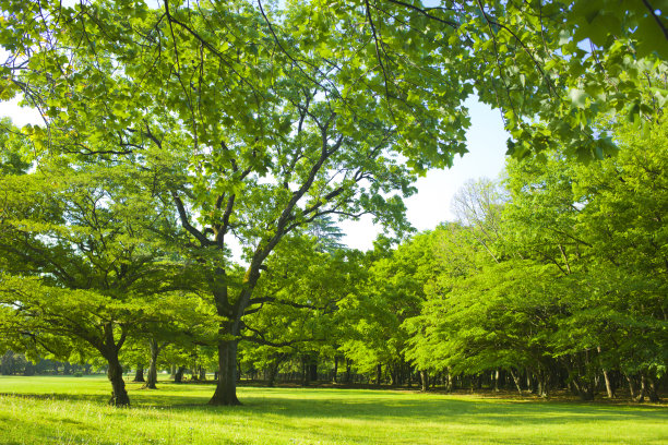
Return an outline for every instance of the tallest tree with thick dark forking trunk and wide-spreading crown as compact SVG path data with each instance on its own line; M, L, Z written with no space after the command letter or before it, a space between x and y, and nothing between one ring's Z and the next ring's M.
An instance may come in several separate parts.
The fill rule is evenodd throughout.
M401 195L414 192L414 176L396 154L416 168L442 166L462 149L463 130L445 109L424 108L421 129L452 134L438 147L425 134L407 141L379 105L378 76L343 92L347 70L365 76L363 67L348 63L350 55L313 52L308 38L288 36L291 47L308 49L309 68L297 65L281 50L279 29L243 2L225 9L118 7L120 12L106 3L41 10L16 4L12 21L47 10L50 15L36 22L37 34L14 36L11 45L4 40L13 53L31 55L28 68L12 82L29 84L32 97L48 100L50 132L31 129L35 141L117 161L136 159L136 168L159 178L156 193L169 197L191 237L181 249L200 265L224 320L212 404L237 404L241 317L276 245L327 215L371 213L405 229ZM290 29L305 12L295 5L273 16ZM41 50L34 41L40 33L49 39ZM346 46L336 38L332 46ZM323 71L325 59L332 67ZM45 80L43 70L56 74ZM243 244L248 262L239 285L229 275L231 236Z

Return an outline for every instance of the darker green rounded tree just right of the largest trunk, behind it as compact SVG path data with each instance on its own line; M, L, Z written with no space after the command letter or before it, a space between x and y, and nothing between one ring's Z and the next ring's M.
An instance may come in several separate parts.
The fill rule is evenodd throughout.
M270 384L282 362L302 361L317 368L318 358L335 354L348 322L341 316L339 303L359 286L360 253L348 250L320 252L322 240L293 236L277 246L267 261L263 281L246 311L243 323L258 346L244 350L253 365L269 370ZM311 374L314 374L312 372Z

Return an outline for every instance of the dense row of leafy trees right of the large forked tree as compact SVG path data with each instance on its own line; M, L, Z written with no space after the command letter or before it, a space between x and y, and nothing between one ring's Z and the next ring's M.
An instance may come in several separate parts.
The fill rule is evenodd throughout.
M623 386L657 400L668 364L668 125L647 134L616 125L618 156L587 166L558 153L511 160L499 183L458 193L460 222L394 250L378 243L349 255L347 269L317 253L308 279L276 266L287 280L276 288L318 301L322 315L265 311L249 323L284 341L307 336L306 326L322 342L242 357L271 373L286 359L320 357L351 360L379 383L419 371L425 388L429 377L452 388L462 376L494 386L503 373L520 393L569 387L591 399L600 382L610 398Z

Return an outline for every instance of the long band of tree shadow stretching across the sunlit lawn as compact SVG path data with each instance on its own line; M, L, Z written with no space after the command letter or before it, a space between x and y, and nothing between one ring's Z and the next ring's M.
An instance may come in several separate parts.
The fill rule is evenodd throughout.
M359 389L305 389L241 387L242 406L207 405L213 385L163 383L158 389L129 387L131 405L138 408L162 408L186 413L247 412L281 418L345 418L366 421L448 421L472 424L571 424L642 420L665 422L666 407L610 406L560 401L509 399L462 399L416 395L404 392ZM187 393L186 393L187 392ZM99 394L11 394L0 396L36 400L71 400L106 405L109 395ZM302 396L302 397L299 397Z

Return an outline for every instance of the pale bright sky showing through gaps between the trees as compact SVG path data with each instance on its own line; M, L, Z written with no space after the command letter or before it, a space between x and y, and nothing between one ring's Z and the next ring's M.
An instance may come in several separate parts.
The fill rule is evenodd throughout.
M10 117L17 127L41 122L36 110L21 108L17 103L17 99L0 103L0 117ZM508 134L503 130L501 115L475 98L469 98L466 106L472 121L466 133L469 153L463 157L457 156L452 168L431 170L426 177L419 178L416 182L418 192L405 201L406 216L420 231L454 220L452 197L466 181L496 179L503 169ZM372 224L371 216L365 216L358 221L343 221L339 227L346 233L342 241L349 248L360 250L372 249L373 240L382 232L381 227Z

